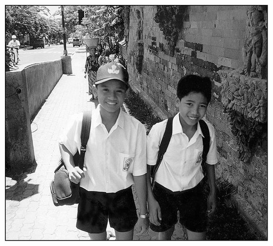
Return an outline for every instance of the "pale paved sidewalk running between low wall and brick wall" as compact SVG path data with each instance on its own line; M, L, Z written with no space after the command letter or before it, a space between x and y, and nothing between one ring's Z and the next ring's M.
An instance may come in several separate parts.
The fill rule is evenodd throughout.
M87 101L90 96L83 73L85 60L85 50L79 48L72 57L73 74L62 76L33 120L36 166L5 178L6 240L89 240L88 234L75 226L77 205L55 207L49 187L60 157L59 134L68 116L98 104L97 100ZM150 229L144 236L134 235L134 240L157 238ZM176 225L173 239L181 240L182 236L181 226Z

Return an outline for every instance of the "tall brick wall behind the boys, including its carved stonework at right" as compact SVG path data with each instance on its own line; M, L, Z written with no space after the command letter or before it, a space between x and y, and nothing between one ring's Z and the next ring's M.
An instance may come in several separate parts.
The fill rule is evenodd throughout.
M135 54L139 18L136 10L140 8L143 9L143 60L142 69L138 71ZM260 232L266 235L267 82L259 78L259 73L256 78L240 74L244 71L242 47L249 30L247 23L251 8L253 6L188 5L172 53L154 21L157 6L131 6L128 71L137 90L158 105L155 112L164 112L166 116L178 112L174 97L182 76L199 74L211 79L212 99L205 118L214 126L217 137L219 165L216 166L216 177L237 187L237 199L243 201L243 207L249 208L246 217L255 217L255 221L259 221L256 224L259 224ZM257 72L258 62L267 63L267 25L264 24L267 12L263 6L253 9L259 11L254 11L258 16L260 12L263 14L259 26L262 32L258 35L259 38L262 35L263 47L259 59L253 60ZM254 22L249 25L257 29ZM255 43L254 35L252 40L253 51L253 47L261 44L261 39ZM258 54L258 51L255 52ZM235 73L231 71L235 69L238 69Z

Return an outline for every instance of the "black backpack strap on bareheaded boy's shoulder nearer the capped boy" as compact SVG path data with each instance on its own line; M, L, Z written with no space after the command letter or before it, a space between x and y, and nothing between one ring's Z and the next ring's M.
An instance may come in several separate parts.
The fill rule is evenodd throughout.
M152 166L152 173L151 173L151 177L152 177L152 187L154 186L154 182L155 182L155 173L157 171L157 169L159 168L159 165L163 159L163 155L165 154L165 152L167 151L167 148L169 146L170 140L171 140L171 135L172 135L172 120L173 117L169 118L166 124L166 128L165 128L165 132L164 135L162 137L160 146L159 146L159 151L158 151L158 156L157 156L157 161L155 166Z

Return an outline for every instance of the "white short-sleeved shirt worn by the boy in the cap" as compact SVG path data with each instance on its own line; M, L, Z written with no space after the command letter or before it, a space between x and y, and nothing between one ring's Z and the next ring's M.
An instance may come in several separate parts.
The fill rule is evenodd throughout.
M71 154L80 150L83 113L74 115L61 136ZM88 191L117 192L134 184L134 176L146 173L146 130L143 124L120 110L108 132L100 114L100 105L92 112L90 137L86 146L85 178L80 186Z

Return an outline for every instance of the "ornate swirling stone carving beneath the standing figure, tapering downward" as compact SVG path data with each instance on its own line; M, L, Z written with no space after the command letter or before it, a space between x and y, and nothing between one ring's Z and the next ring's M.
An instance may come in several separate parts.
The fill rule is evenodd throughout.
M238 139L240 160L247 162L251 148L266 132L267 81L241 75L238 70L219 70L218 74L224 113L228 113L232 133Z

